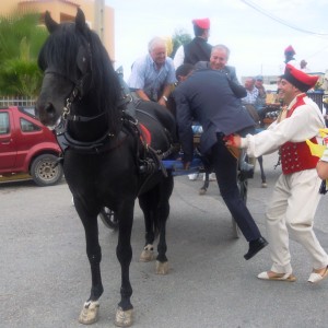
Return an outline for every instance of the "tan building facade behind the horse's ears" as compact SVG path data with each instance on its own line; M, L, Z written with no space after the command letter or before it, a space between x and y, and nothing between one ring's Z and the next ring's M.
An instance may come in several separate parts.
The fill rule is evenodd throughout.
M80 7L89 26L97 32L112 60L115 60L114 9L104 3L104 0L2 0L0 15L39 12L43 23L45 12L49 11L51 17L61 23L73 21Z

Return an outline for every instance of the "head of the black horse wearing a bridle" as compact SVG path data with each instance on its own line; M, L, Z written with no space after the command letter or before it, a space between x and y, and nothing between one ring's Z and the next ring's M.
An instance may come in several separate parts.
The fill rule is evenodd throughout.
M74 23L56 23L46 12L50 33L43 46L38 65L44 71L36 112L43 124L55 127L77 98L85 96L92 83L90 30L79 9Z

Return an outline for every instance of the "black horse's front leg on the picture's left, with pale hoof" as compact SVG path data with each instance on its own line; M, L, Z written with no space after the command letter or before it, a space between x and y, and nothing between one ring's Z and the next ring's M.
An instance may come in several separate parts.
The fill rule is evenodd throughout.
M79 323L90 325L98 319L98 298L104 292L101 276L102 249L98 243L97 215L89 216L85 214L85 211L80 209L78 203L75 203L75 207L85 230L86 254L91 267L92 278L91 294L83 305L79 317Z

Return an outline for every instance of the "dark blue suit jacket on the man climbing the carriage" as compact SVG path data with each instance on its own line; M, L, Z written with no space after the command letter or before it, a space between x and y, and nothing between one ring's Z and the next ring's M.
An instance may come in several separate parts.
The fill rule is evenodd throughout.
M192 121L202 126L200 148L203 154L218 142L218 132L227 136L255 125L222 72L197 70L176 87L173 95L185 162L192 160Z

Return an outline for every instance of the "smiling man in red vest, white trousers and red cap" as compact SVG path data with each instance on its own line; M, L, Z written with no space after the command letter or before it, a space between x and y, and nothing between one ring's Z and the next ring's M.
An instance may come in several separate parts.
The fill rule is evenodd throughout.
M317 176L318 159L311 154L305 142L319 140L318 130L325 127L323 114L306 92L318 77L308 75L286 65L279 82L280 95L286 105L280 117L267 130L246 138L234 136L229 145L247 149L258 157L280 150L282 175L279 177L267 216L272 267L258 274L259 279L295 281L289 250L289 232L308 251L313 271L308 282L316 283L328 277L328 255L320 246L314 230L314 215L320 199L321 180Z

